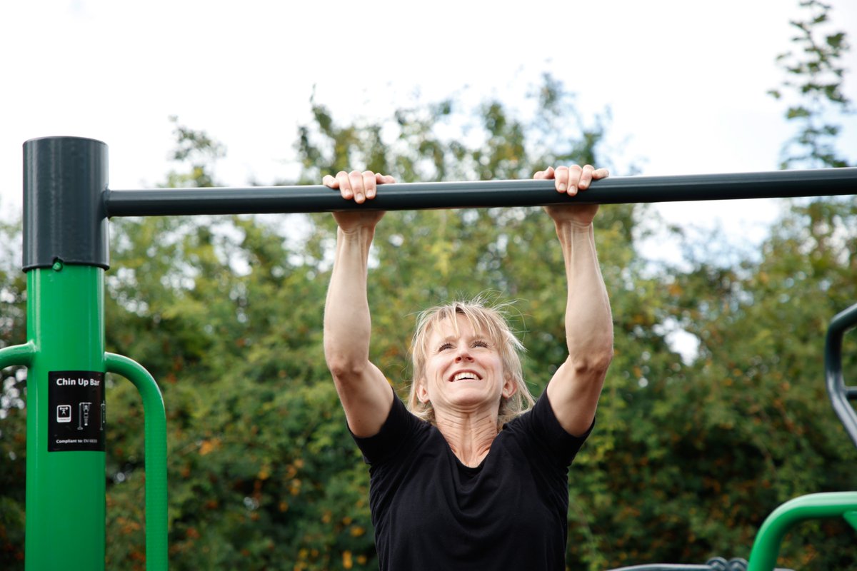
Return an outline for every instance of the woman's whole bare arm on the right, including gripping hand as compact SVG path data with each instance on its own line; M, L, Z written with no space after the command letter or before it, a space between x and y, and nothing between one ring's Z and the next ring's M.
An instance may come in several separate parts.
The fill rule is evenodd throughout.
M539 171L554 179L557 192L573 196L608 171L590 165ZM547 206L566 263L568 358L548 384L548 400L560 425L581 436L592 425L604 378L613 359L613 316L595 248L592 220L598 205Z

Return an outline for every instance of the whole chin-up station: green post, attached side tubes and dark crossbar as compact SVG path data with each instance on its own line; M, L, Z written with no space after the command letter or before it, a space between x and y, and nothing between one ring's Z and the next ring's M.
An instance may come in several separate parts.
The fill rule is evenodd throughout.
M107 146L50 137L24 144L27 343L0 367L27 366L27 569L105 568L105 373L141 391L146 433L146 562L167 565L166 429L158 385L105 352L108 219L129 216L417 210L580 203L828 196L857 192L857 169L728 175L617 176L577 197L553 181L385 185L357 205L323 186L113 190ZM47 546L50 545L50 548Z

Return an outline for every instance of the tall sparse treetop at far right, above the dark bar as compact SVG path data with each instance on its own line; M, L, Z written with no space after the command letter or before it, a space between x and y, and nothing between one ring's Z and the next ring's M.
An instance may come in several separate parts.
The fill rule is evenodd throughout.
M786 98L785 116L794 121L797 133L782 148L782 169L803 167L846 167L836 149L836 138L842 126L836 116L854 111L842 91L846 68L844 57L851 49L845 33L828 33L830 5L818 0L803 0L804 20L792 21L796 32L794 49L776 58L787 74L782 89L769 93L776 99Z

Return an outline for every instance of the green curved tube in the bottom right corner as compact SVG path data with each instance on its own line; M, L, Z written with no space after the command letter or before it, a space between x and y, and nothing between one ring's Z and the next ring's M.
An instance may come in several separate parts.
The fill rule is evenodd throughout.
M807 494L783 503L759 528L747 571L771 571L776 565L782 538L792 526L804 520L827 517L844 517L854 526L857 521L857 491Z

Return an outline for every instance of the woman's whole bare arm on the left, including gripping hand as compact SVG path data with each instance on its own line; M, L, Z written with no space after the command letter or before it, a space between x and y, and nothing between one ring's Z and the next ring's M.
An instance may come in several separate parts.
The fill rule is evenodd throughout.
M339 189L343 199L363 204L375 198L378 184L394 182L392 176L370 171L340 171L327 175L327 187ZM367 277L369 247L380 211L334 212L339 224L336 257L324 312L324 352L327 367L345 408L345 419L357 437L375 436L393 406L393 390L381 370L369 362L369 317Z

